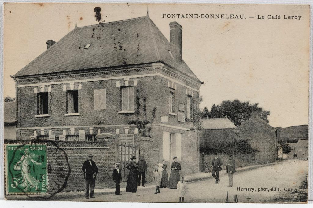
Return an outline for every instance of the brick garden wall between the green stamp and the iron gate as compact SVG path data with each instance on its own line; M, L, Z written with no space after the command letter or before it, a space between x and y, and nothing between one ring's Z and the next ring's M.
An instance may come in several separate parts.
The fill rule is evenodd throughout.
M17 140L14 141L18 142ZM5 143L12 142L13 140L5 140ZM82 166L84 161L87 160L88 154L94 155L93 160L98 167L95 188L115 187L112 180L112 171L115 164L114 140L111 139L108 142L57 141L56 144L63 151L56 148L54 144L49 141L44 141L44 143L47 143L49 192L60 188L69 170L70 175L64 191L85 190ZM66 156L69 165L66 163Z

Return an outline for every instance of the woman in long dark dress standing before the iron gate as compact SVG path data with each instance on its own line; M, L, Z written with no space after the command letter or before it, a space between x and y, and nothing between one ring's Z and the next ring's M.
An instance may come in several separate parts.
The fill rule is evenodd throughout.
M136 157L131 157L131 162L126 165L126 168L129 169L126 191L131 193L137 192L138 184L138 165L136 163Z

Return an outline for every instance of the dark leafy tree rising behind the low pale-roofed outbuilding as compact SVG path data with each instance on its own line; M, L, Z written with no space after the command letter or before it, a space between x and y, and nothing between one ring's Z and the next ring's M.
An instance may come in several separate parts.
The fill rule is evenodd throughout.
M202 118L223 118L227 116L235 126L239 126L250 118L252 111L258 111L259 117L265 122L269 122L267 119L269 111L265 111L262 107L259 107L259 103L250 104L249 101L241 102L238 99L233 101L224 100L219 105L213 104L209 113L203 109Z

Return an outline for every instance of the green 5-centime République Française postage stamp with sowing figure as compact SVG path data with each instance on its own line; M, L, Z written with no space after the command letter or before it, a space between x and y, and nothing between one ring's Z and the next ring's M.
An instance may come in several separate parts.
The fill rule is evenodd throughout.
M47 193L47 162L46 144L6 144L6 193Z

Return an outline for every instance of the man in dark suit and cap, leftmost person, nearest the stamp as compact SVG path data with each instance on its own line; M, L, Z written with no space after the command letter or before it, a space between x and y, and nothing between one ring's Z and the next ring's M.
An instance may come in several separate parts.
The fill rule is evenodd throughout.
M89 184L90 184L90 198L94 197L95 180L98 174L98 168L96 163L92 160L93 155L88 155L88 160L83 164L82 171L84 172L84 179L86 179L86 199L89 198Z

